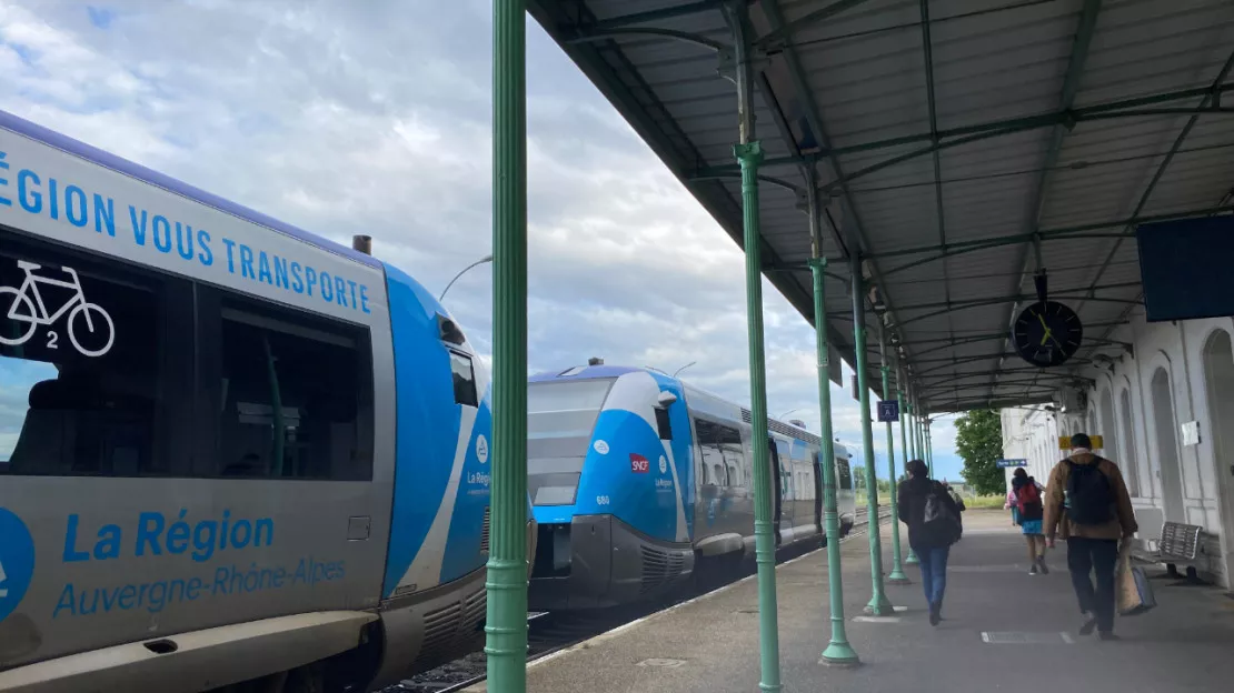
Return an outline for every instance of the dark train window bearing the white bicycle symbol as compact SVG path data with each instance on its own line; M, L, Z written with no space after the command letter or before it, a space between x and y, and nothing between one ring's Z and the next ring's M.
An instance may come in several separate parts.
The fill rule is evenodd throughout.
M191 301L186 281L0 229L0 475L190 470Z

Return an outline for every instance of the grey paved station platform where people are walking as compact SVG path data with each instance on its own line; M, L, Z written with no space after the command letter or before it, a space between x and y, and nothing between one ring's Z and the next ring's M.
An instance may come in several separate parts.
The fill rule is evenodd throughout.
M888 529L882 527L890 571ZM1116 633L1123 640L1081 638L1065 545L1050 551L1049 575L1028 575L1023 538L1001 511L965 513L937 628L927 618L917 566L906 566L911 584L887 586L892 603L905 610L864 617L869 541L865 535L845 541L847 629L861 666L829 667L819 663L830 635L826 555L814 551L777 570L785 693L1174 693L1229 689L1234 678L1234 598L1213 587L1154 578L1157 608L1119 619ZM1157 573L1164 571L1150 570ZM743 580L532 662L527 691L756 693L756 587L753 577Z

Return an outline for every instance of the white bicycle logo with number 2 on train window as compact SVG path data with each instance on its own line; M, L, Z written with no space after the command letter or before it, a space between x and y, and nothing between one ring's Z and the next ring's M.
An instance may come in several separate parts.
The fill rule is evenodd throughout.
M85 291L81 289L81 279L77 270L62 266L64 274L70 277L69 281L64 281L37 276L35 273L42 266L27 260L17 260L17 269L26 273L26 279L20 289L0 286L0 311L9 303L5 317L12 323L17 323L19 327L15 333L0 329L0 344L21 346L35 337L38 326L52 326L68 313L69 342L78 351L85 356L101 356L111 350L116 339L116 326L111 322L107 311L104 311L97 303L90 303L85 300ZM43 301L39 286L69 289L73 295L52 312ZM21 324L25 327L20 327ZM58 333L47 330L47 348L58 349Z

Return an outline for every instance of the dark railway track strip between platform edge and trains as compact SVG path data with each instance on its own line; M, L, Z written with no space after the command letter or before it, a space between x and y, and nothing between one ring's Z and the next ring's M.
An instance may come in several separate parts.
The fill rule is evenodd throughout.
M865 536L869 531L868 509L858 508L853 529L848 536L840 541L848 541L858 536ZM879 520L888 519L891 512L887 508L879 509ZM781 560L795 557L812 551L813 547L795 550L790 554L777 556ZM743 573L748 575L748 573ZM739 580L743 575L734 575L733 580ZM724 586L731 583L726 582ZM717 587L722 589L724 586ZM610 612L596 612L587 614L529 614L527 624L527 661L547 657L555 652L568 650L579 642L590 640L602 633L608 633L615 628L633 623L654 613L671 608L674 605L696 599L710 593L696 589L684 591L675 597L640 604L634 608L622 607ZM484 652L473 652L459 660L437 667L432 671L418 673L399 684L385 688L381 693L455 693L474 686L486 678Z

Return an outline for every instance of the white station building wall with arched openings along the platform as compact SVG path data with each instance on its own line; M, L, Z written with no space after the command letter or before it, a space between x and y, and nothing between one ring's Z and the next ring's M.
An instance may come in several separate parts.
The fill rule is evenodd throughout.
M1111 339L1130 343L1134 356L1124 354L1107 367L1080 369L1079 375L1096 381L1096 387L1087 392L1087 408L1065 413L1051 413L1044 407L1003 409L1003 453L1006 457L1027 457L1029 474L1044 483L1050 467L1065 454L1058 449L1059 435L1080 432L1102 435L1106 449L1101 454L1114 460L1124 476L1138 487L1133 490L1132 502L1140 536L1157 538L1165 519L1203 527L1209 538L1207 550L1212 555L1209 575L1229 587L1229 570L1222 556L1234 551L1234 536L1225 536L1234 533L1223 530L1219 485L1234 485L1234 478L1229 477L1234 460L1217 460L1203 360L1204 345L1218 329L1234 334L1234 321L1213 318L1146 323L1143 311L1137 310L1130 324L1119 327L1109 335ZM1174 448L1178 459L1174 472L1181 487L1181 512L1171 511L1170 517L1166 517L1160 432L1154 416L1155 407L1166 403L1155 402L1151 395L1157 369L1164 369L1170 379L1174 400L1170 419L1174 422ZM1120 412L1124 391L1132 404L1129 430ZM1114 408L1108 418L1103 411L1107 404ZM1199 422L1199 444L1183 445L1180 427L1192 420ZM1107 422L1113 422L1113 430L1103 430ZM1009 481L1011 470L1007 476Z

